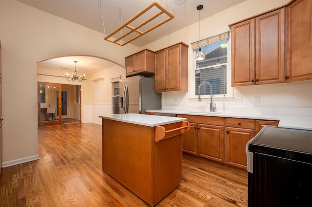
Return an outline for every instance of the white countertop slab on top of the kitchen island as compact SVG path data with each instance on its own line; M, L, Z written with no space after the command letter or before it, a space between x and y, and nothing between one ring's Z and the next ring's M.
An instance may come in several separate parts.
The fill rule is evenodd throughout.
M139 113L112 114L111 116L98 116L98 117L111 119L115 121L127 122L131 124L144 125L148 127L156 127L160 125L186 121L186 118L154 116Z

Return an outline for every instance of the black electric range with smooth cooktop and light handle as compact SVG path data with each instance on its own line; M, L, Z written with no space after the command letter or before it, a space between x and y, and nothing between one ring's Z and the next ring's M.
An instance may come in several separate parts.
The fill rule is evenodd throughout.
M264 127L246 146L248 207L311 203L312 130Z

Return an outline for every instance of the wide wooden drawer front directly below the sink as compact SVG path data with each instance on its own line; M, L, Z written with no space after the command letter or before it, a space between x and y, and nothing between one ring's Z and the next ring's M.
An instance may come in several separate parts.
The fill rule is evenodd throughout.
M193 123L224 126L223 117L197 116L197 115L184 115L184 114L176 114L176 117L186 118L188 122L193 122Z

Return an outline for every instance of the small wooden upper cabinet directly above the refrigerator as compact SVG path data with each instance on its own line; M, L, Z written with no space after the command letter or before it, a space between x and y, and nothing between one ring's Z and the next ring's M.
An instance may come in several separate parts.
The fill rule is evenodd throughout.
M145 77L154 75L154 52L143 50L134 55L125 57L126 76L144 75Z

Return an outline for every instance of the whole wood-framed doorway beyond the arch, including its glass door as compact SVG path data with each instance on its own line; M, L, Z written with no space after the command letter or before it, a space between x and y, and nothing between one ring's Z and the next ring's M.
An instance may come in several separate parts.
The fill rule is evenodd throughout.
M81 86L38 82L38 127L81 123Z

